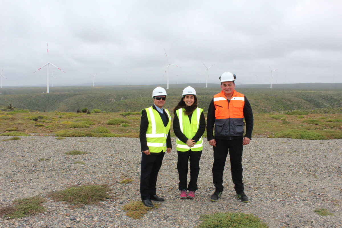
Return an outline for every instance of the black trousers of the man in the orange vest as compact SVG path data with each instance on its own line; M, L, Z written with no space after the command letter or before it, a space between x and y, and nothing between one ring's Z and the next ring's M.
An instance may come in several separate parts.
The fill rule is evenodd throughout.
M223 140L216 139L216 146L214 148L214 164L212 168L213 183L216 191L223 191L223 170L226 163L226 158L229 152L231 161L231 172L234 183L234 189L237 193L244 191L244 184L242 183L242 141L243 138Z

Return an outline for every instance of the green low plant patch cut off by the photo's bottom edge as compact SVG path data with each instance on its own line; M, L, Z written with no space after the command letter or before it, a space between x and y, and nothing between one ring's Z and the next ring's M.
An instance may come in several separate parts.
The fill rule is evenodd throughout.
M211 215L201 215L197 228L268 228L266 223L252 214L218 212Z

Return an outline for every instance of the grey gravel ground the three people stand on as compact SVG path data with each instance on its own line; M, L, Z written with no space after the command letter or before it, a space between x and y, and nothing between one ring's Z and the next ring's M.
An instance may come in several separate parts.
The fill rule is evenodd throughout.
M11 138L0 136L0 140ZM342 140L254 138L244 147L245 192L249 203L234 196L227 161L222 199L211 202L212 148L206 143L200 161L199 189L194 200L179 199L175 149L166 154L159 172L161 207L142 219L126 216L122 206L140 200L140 144L136 138L21 137L0 141L0 206L14 199L44 195L70 185L108 184L113 199L100 206L70 208L47 198L47 211L22 219L0 218L0 227L195 227L201 214L244 212L269 227L342 227ZM205 139L206 141L206 139ZM173 138L173 145L175 139ZM70 150L89 151L67 156ZM40 159L49 159L41 160ZM86 164L75 164L84 161ZM132 178L130 184L119 184ZM326 208L334 216L318 216Z

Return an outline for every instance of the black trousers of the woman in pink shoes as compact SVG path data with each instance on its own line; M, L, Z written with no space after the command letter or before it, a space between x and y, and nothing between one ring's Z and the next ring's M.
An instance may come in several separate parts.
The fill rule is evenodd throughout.
M201 159L201 151L178 151L178 161L177 170L179 176L178 189L196 191L197 188L197 178L199 173L199 160ZM190 159L190 182L187 185L187 175L188 175L188 162Z

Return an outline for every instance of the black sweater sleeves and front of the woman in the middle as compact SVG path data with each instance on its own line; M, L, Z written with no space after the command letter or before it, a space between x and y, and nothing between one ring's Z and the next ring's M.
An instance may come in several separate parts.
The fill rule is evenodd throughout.
M189 117L189 120L191 123L192 113L190 115L188 115L188 117ZM195 143L198 142L198 140L201 138L201 136L203 135L205 130L206 130L206 119L205 119L204 114L202 112L201 116L199 118L199 126L198 126L197 133L192 138L195 140ZM173 118L173 132L176 135L176 137L179 138L179 140L181 140L183 143L186 143L188 138L181 131L181 127L179 125L179 118L177 115L174 115L174 118Z

